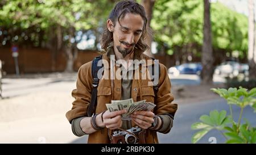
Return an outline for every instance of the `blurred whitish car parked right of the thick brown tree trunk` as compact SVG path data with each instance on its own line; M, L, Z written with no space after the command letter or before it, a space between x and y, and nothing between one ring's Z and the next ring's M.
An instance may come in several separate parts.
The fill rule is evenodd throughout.
M214 74L221 77L236 77L238 74L247 74L249 66L236 61L225 61L216 67Z

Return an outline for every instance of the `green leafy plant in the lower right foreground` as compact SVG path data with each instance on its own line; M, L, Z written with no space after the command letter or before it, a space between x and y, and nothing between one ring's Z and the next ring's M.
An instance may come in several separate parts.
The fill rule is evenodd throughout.
M210 130L217 129L226 138L226 143L256 143L256 127L251 127L249 121L241 125L243 109L246 106L251 106L256 112L256 87L247 91L243 87L226 89L211 89L226 99L229 104L230 115L226 115L226 111L210 111L208 115L200 117L201 122L196 122L191 125L191 129L200 129L192 136L192 143L197 143ZM238 122L233 119L232 105L241 108Z

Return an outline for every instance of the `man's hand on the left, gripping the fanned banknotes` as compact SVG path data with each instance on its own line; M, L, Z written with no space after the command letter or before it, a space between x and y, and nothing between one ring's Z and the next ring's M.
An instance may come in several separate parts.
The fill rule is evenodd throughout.
M113 112L110 112L109 110L107 110L102 116L103 122L106 128L117 129L122 127L121 115L125 113L126 113L126 110L119 110L119 111L113 111Z

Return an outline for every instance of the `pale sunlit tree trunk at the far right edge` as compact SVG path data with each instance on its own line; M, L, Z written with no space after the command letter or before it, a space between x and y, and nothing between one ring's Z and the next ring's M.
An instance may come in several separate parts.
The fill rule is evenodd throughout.
M256 52L255 52L255 23L254 23L254 2L253 0L248 1L249 7L249 30L248 30L248 63L249 63L249 78L256 78Z

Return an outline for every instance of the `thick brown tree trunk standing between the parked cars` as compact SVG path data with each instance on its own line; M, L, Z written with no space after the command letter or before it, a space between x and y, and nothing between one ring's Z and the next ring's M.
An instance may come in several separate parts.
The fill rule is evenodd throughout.
M202 48L201 62L203 70L201 73L202 84L212 84L213 78L213 54L212 54L212 35L210 26L210 3L204 0L204 42Z

